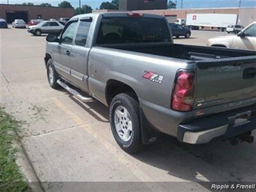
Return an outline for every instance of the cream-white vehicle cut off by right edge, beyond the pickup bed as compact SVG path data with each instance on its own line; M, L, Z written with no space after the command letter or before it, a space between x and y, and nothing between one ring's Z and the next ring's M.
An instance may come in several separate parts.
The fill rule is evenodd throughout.
M256 50L256 22L253 22L244 28L237 35L210 38L207 45L214 47Z

